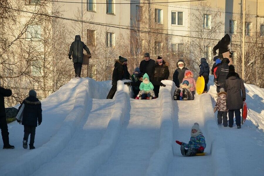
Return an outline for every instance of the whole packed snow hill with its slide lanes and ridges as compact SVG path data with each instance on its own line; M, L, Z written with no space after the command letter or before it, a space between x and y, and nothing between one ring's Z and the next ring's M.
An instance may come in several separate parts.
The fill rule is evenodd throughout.
M248 116L237 129L217 124L211 76L208 93L190 101L173 100L170 80L152 100L132 99L124 82L106 99L111 81L72 79L41 101L34 150L22 146L23 126L9 123L15 149L0 150L1 175L263 175L264 89L245 84ZM194 123L207 154L185 157L175 140L188 143Z

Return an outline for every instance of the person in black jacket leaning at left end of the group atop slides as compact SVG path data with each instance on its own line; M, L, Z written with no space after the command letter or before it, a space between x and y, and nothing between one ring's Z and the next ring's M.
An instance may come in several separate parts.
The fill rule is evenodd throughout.
M113 99L116 89L117 89L117 81L122 80L123 76L123 63L125 62L126 58L119 56L119 60L116 60L112 75L112 88L110 89L106 99Z

